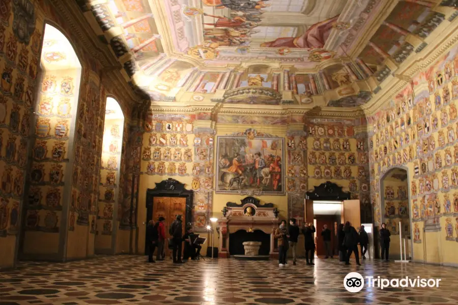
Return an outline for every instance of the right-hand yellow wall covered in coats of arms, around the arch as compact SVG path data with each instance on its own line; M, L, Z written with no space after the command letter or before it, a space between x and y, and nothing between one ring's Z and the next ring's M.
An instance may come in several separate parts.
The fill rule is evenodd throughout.
M370 149L371 200L375 222L380 225L384 214L380 200L381 177L392 167L407 167L415 261L458 263L454 255L458 240L458 206L456 209L453 206L455 188L458 187L454 175L458 170L455 159L455 154L458 154L458 57L455 54L456 47L415 76L413 90L407 86L388 102L383 111L369 118L373 147ZM400 137L403 137L403 143L400 143ZM415 234L417 227L418 233Z

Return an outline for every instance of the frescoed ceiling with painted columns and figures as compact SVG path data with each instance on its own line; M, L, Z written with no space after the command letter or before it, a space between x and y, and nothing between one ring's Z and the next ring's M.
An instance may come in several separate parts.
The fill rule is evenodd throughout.
M364 106L457 15L447 0L76 2L146 98L320 107Z

